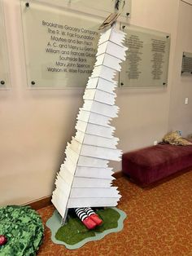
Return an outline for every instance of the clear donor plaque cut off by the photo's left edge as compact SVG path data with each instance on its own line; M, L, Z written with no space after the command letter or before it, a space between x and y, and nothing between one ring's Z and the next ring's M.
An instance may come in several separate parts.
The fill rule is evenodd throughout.
M0 1L0 89L9 88L10 80L4 12Z

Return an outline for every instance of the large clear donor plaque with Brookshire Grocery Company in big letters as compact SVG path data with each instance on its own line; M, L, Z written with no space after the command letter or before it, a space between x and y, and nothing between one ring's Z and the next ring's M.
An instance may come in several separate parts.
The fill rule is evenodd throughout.
M20 2L28 86L85 87L102 20L40 2Z

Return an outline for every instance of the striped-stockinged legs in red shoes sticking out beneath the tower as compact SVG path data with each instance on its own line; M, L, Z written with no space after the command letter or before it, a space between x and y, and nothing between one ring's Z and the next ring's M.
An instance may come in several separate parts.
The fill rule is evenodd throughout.
M98 214L95 214L94 210L89 207L76 208L75 212L76 215L81 219L81 222L84 223L85 227L88 229L93 229L94 227L103 223L103 220L98 217Z

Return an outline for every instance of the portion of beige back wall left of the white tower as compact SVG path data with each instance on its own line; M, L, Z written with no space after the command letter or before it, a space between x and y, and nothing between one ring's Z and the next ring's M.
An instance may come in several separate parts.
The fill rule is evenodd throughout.
M27 89L20 1L5 8L12 88L0 91L0 205L50 195L83 95L82 89Z

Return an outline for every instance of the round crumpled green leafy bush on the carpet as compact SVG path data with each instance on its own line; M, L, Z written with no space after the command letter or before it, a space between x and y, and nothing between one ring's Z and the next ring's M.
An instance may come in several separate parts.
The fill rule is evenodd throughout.
M9 205L0 208L0 235L7 243L0 246L1 256L36 255L43 239L40 215L29 206Z

